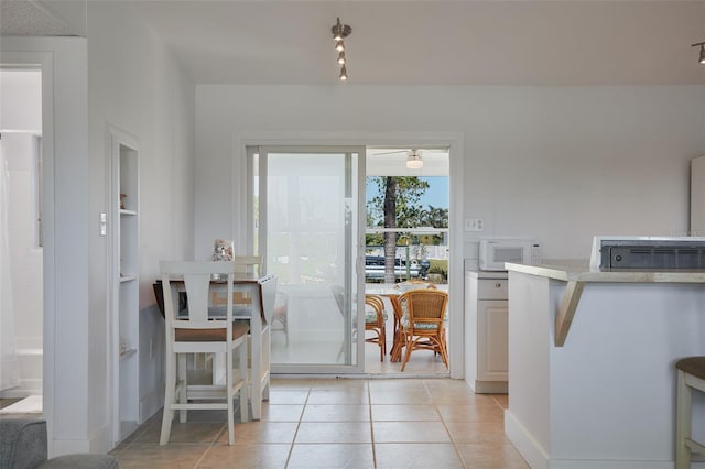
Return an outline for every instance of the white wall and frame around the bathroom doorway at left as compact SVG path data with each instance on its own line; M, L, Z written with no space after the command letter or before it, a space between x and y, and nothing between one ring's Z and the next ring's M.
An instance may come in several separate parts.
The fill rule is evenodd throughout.
M3 36L0 44L0 64L42 69L43 418L48 455L107 451L106 433L88 432L95 411L87 405L89 370L87 360L77 359L88 356L89 339L89 236L83 229L88 226L87 42Z

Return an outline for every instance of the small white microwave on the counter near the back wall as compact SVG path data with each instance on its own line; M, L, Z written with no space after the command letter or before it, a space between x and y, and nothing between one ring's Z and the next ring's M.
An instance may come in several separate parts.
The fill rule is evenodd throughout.
M525 238L488 238L480 240L480 270L506 271L505 262L540 264L541 244L535 240Z

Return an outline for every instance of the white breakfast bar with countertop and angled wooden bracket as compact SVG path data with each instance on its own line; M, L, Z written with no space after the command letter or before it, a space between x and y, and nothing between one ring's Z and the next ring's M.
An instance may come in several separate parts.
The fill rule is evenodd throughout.
M530 466L673 468L673 364L705 355L705 271L507 269L505 432ZM693 434L705 436L699 395Z

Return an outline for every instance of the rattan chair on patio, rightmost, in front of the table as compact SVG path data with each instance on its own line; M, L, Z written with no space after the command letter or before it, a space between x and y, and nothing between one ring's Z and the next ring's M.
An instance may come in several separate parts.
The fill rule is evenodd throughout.
M402 310L401 338L406 348L401 371L404 371L411 352L414 350L432 350L441 355L448 366L448 350L445 340L445 314L448 306L448 294L440 290L411 290L399 296Z

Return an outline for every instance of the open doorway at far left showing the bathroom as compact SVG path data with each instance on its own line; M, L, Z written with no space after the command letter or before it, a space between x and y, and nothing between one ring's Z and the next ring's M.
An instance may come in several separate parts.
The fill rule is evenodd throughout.
M0 413L42 413L42 72L0 67Z

